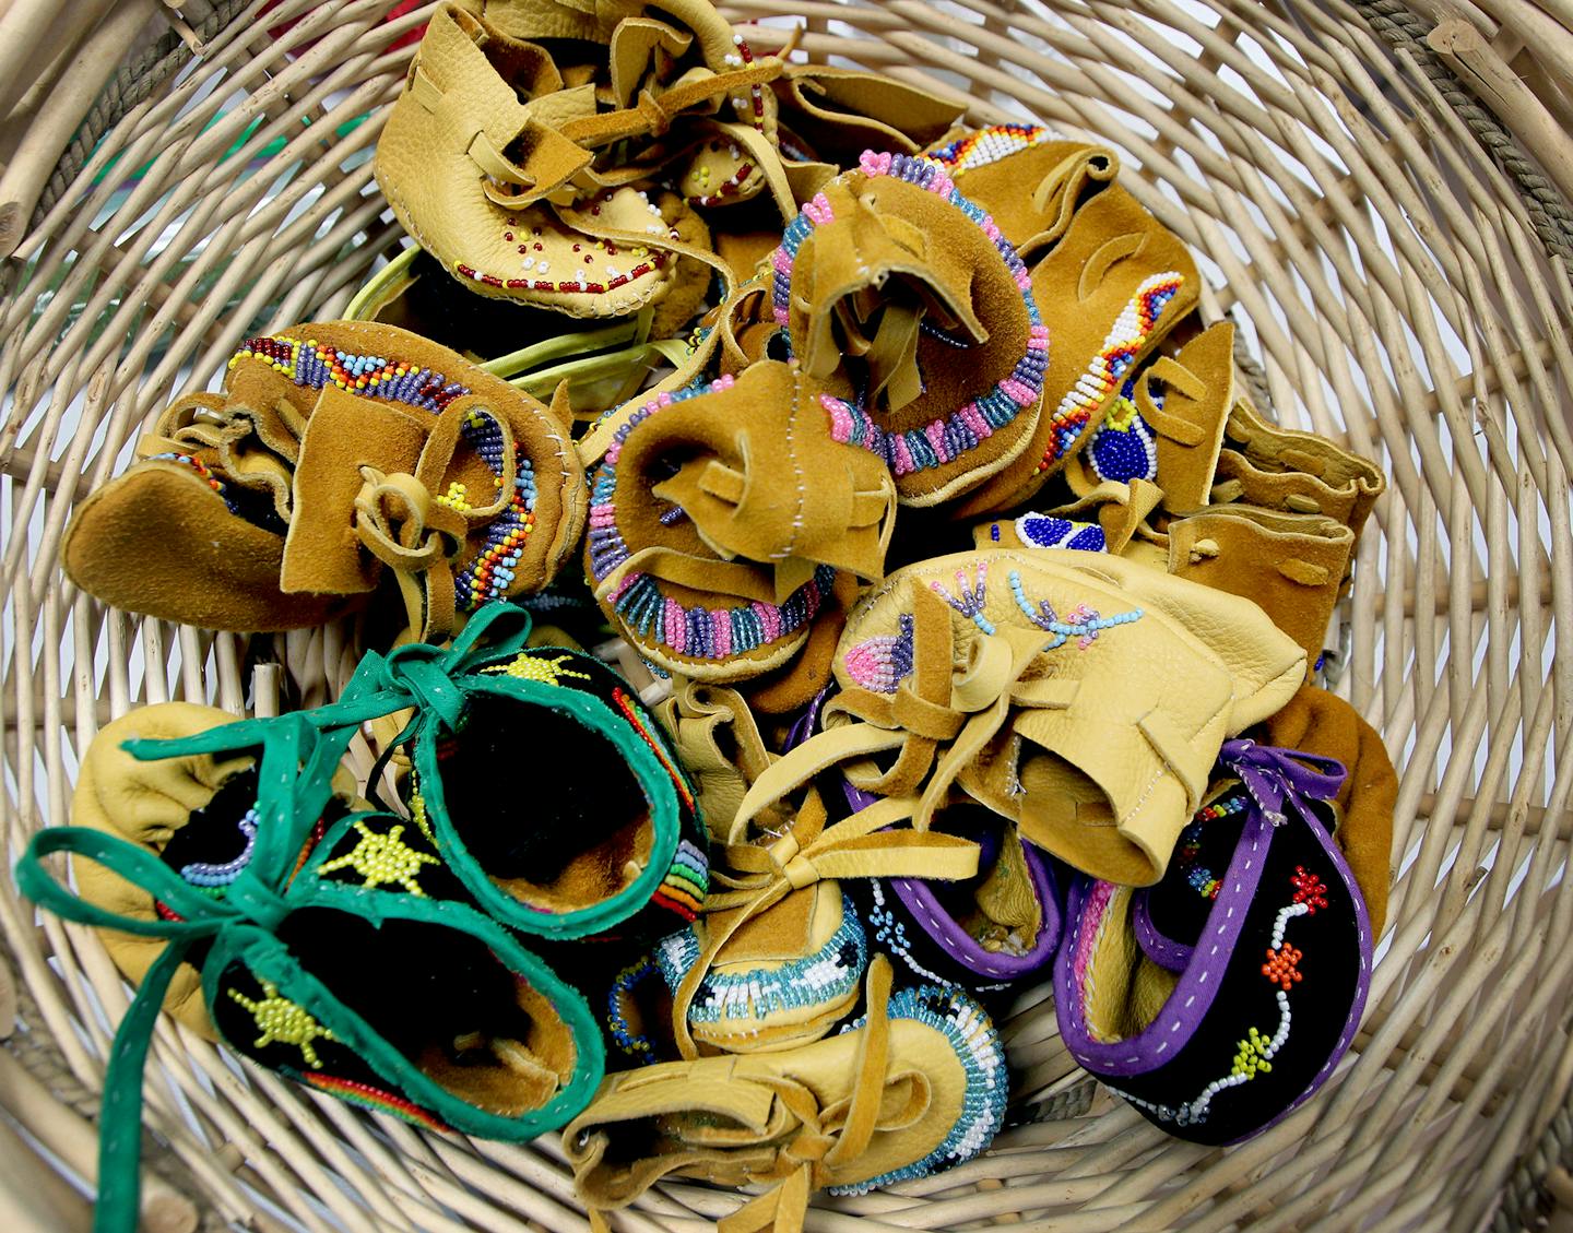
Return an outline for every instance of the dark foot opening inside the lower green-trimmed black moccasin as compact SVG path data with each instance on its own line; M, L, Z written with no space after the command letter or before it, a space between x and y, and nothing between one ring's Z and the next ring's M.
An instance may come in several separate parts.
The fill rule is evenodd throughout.
M378 1035L477 1109L518 1117L573 1076L573 1036L551 1000L480 939L329 909L294 912L278 936Z

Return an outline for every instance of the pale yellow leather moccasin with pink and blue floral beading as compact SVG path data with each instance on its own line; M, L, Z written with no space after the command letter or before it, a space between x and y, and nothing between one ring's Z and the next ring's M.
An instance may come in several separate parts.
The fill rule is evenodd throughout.
M1153 882L1219 744L1282 706L1304 670L1255 604L1133 561L922 561L854 609L826 730L758 778L735 826L842 764L881 804L915 797L914 826L958 786L1076 868Z

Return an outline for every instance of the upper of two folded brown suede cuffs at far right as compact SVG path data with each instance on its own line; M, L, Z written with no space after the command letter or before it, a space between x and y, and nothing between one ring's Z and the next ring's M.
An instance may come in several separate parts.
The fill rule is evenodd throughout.
M1243 502L1290 514L1323 514L1354 532L1365 527L1387 477L1370 459L1315 432L1268 423L1235 398L1218 459L1213 502Z

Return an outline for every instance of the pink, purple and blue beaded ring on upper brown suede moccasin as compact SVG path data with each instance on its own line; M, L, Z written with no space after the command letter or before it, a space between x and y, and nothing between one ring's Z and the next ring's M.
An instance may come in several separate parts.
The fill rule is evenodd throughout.
M1016 256L1010 241L1000 234L994 220L961 195L944 165L922 156L864 151L857 167L865 176L890 176L926 189L960 209L999 250L1000 259L1021 289L1022 302L1027 307L1027 351L1016 362L1010 376L996 382L988 393L969 401L949 417L934 420L926 428L889 432L873 421L867 409L842 398L820 395L820 404L831 417L831 436L835 440L860 445L870 453L879 455L895 475L911 475L915 470L953 462L1015 420L1022 407L1037 406L1049 366L1049 332L1038 315L1038 304L1032 297L1032 275L1027 267ZM777 324L786 329L788 354L791 354L791 274L798 261L798 250L815 226L823 226L832 219L831 203L824 193L816 195L802 208L802 214L786 225L782 244L771 258L775 269L771 305Z

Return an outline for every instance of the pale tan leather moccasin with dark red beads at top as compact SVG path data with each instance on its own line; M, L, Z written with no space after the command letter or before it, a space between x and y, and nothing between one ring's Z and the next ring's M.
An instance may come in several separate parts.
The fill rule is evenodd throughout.
M692 211L672 193L651 200L639 184L686 143L667 149L648 138L665 129L669 109L713 113L730 94L724 82L736 79L747 98L749 82L768 80L780 63L717 77L709 66L722 68L736 49L708 3L667 6L695 20L692 30L643 8L448 3L433 16L378 142L376 175L404 230L478 294L623 316L669 293L670 241L684 239L680 220ZM599 46L609 63L585 75L532 39L577 39L551 44L563 55ZM664 86L654 64L681 77ZM761 98L774 96L761 86ZM598 151L626 138L653 156L648 164L598 171ZM612 237L620 242L593 244Z

